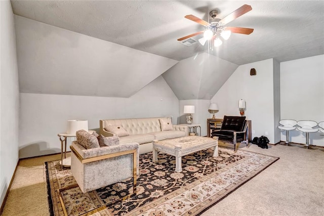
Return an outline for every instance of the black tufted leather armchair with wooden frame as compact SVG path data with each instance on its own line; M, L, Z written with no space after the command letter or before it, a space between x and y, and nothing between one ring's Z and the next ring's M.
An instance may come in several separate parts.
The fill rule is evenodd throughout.
M236 143L245 141L247 146L248 141L248 122L245 116L224 116L222 127L219 131L214 131L212 137L218 137L219 141L234 144L236 152Z

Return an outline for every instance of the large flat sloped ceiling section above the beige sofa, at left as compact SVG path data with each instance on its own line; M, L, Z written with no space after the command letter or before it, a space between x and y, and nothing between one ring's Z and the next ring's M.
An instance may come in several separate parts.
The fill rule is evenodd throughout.
M15 16L21 93L128 98L178 61Z

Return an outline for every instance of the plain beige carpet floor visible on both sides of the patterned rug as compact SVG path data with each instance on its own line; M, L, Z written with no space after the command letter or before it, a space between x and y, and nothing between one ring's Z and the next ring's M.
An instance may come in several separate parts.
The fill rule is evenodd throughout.
M240 148L280 159L202 215L324 215L324 152ZM20 161L2 215L49 215L43 163L59 157Z

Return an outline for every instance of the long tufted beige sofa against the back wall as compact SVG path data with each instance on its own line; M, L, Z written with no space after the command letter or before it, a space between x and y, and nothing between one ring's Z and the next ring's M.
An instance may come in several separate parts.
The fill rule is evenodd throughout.
M159 119L171 119L170 117L155 118L128 118L128 119L107 119L100 120L100 134L105 137L116 136L106 131L109 125L121 125L129 136L119 137L119 143L139 143L140 154L151 152L152 140L166 140L188 136L186 125L172 125L172 131L161 131Z

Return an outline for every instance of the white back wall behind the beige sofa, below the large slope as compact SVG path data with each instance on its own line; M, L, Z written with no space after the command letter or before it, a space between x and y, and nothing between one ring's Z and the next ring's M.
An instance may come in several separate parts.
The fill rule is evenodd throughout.
M20 98L20 158L60 152L57 134L66 132L68 119L86 119L89 129L96 129L100 119L160 116L176 119L179 115L179 100L162 76L130 98L29 93L21 93Z

